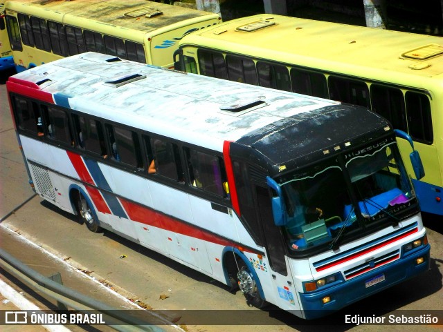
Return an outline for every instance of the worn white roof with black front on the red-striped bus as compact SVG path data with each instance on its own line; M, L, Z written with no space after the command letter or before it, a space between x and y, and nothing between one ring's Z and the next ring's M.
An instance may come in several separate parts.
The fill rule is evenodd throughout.
M224 141L251 146L273 165L333 150L374 130L392 130L386 119L359 106L94 52L26 70L8 84L30 86L60 106L213 150L222 151ZM26 93L33 97L37 91Z

